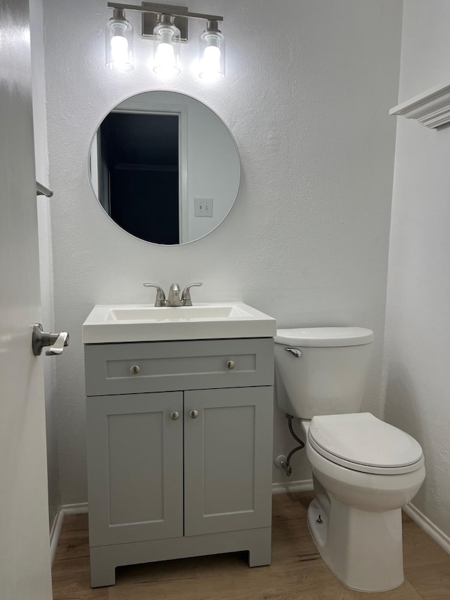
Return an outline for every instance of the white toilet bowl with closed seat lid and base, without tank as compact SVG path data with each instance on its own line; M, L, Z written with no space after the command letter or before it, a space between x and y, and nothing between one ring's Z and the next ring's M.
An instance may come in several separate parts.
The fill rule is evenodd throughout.
M335 425L342 446L323 436L323 421ZM361 440L352 438L355 427L364 430L362 458ZM314 417L304 428L316 491L308 525L323 560L352 589L382 592L401 585L401 506L425 478L420 445L370 413Z

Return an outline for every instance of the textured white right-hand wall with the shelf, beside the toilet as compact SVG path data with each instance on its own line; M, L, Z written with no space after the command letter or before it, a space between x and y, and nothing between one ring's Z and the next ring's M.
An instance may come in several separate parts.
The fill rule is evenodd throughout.
M399 102L449 82L449 31L448 1L405 1ZM385 418L422 445L427 478L413 504L446 535L450 535L449 156L449 127L427 129L398 117Z

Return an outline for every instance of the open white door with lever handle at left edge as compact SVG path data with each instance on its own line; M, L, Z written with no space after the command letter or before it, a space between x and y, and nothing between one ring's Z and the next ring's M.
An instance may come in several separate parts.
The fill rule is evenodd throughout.
M51 599L28 0L0 3L0 598Z

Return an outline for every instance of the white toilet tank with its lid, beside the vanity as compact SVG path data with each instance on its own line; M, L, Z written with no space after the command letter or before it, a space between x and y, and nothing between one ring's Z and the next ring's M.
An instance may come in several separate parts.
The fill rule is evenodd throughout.
M361 327L278 329L278 407L301 419L359 412L373 337Z

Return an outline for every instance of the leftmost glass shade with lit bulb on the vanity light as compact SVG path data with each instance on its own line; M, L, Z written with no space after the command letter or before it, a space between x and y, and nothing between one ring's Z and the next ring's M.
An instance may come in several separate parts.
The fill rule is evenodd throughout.
M115 9L114 12L106 24L106 66L113 71L131 71L134 68L133 25L123 11L116 13Z

